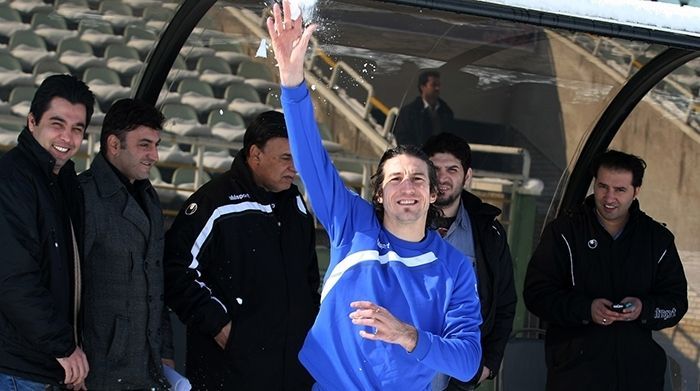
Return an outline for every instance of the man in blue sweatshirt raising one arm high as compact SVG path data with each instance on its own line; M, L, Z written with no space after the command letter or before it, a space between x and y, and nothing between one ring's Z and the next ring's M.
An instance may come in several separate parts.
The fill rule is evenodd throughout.
M289 3L285 1L285 15ZM382 156L372 204L348 191L323 149L303 59L314 26L268 20L289 143L316 216L331 240L321 308L299 359L315 389L428 390L437 372L471 379L481 358L481 315L471 261L428 223L439 213L427 156Z

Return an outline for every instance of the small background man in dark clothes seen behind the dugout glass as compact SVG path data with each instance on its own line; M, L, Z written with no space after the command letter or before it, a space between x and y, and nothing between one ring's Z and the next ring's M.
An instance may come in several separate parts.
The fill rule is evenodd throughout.
M454 114L440 99L440 74L424 71L418 76L418 96L396 117L394 137L398 145L421 145L428 137L452 131Z

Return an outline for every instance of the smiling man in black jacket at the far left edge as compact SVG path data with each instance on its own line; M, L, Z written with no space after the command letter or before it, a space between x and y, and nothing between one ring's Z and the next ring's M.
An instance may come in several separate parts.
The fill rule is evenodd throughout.
M17 147L0 160L0 388L80 389L89 367L78 346L82 193L71 158L94 96L70 75L48 77Z

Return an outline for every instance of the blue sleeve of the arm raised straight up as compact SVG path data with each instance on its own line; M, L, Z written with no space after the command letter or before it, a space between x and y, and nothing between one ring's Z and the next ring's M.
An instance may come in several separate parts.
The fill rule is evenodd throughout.
M337 245L359 197L345 187L323 147L306 84L282 87L281 101L294 166L316 217Z

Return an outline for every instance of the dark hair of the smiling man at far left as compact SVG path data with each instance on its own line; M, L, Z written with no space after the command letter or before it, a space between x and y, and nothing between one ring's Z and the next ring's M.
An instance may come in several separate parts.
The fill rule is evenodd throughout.
M61 74L51 75L44 79L34 93L29 112L32 113L37 123L49 108L53 98L63 98L72 104L85 106L85 128L90 125L92 113L95 110L95 95L90 88L78 80L75 76Z

